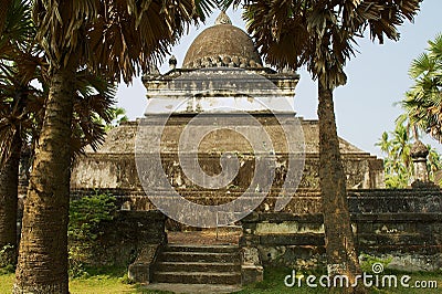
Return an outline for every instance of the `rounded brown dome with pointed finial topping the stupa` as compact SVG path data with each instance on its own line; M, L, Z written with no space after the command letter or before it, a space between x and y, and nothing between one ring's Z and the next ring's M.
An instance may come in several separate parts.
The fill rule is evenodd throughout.
M182 67L262 67L252 39L221 12L215 24L202 31L187 51Z

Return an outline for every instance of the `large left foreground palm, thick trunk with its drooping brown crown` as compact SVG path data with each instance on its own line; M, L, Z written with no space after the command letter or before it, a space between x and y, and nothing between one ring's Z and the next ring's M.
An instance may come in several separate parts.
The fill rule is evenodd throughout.
M194 7L197 3L197 8ZM14 293L69 293L67 211L76 70L128 83L161 59L210 1L35 0L50 91L23 211Z

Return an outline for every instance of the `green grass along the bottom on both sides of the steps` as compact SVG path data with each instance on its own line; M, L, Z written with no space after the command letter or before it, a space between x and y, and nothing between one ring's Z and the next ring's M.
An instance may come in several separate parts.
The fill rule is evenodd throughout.
M124 277L125 270L122 269L99 269L91 272L90 277L74 279L70 282L70 291L72 294L117 294L117 293L170 293L170 292L155 292L143 290L141 286L127 284L127 279ZM302 287L286 287L284 285L284 277L291 274L290 269L266 269L264 281L261 283L255 283L253 285L245 286L238 294L280 294L280 293L327 293L325 288L311 288L305 285L305 280L303 281ZM304 273L304 275L315 274L319 276L322 273ZM385 274L396 274L397 276L402 276L406 273L400 272L386 272ZM412 280L409 282L410 285L414 285L414 281L436 281L439 288L425 288L418 290L413 287L404 288L399 286L398 288L370 288L370 293L407 293L407 294L420 294L420 293L441 293L442 288L442 272L438 273L411 273L409 274ZM14 274L0 271L0 294L11 293L12 284L14 280Z

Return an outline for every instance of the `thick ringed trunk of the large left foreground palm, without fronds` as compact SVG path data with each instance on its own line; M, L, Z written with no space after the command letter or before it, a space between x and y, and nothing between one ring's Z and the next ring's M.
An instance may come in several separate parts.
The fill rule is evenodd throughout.
M13 293L69 293L73 70L55 70L24 202Z

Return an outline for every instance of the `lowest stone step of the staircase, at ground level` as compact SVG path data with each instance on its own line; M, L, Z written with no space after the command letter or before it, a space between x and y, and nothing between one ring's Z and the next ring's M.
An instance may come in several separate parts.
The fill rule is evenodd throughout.
M178 284L241 284L241 273L218 273L218 272L155 272L156 283Z

